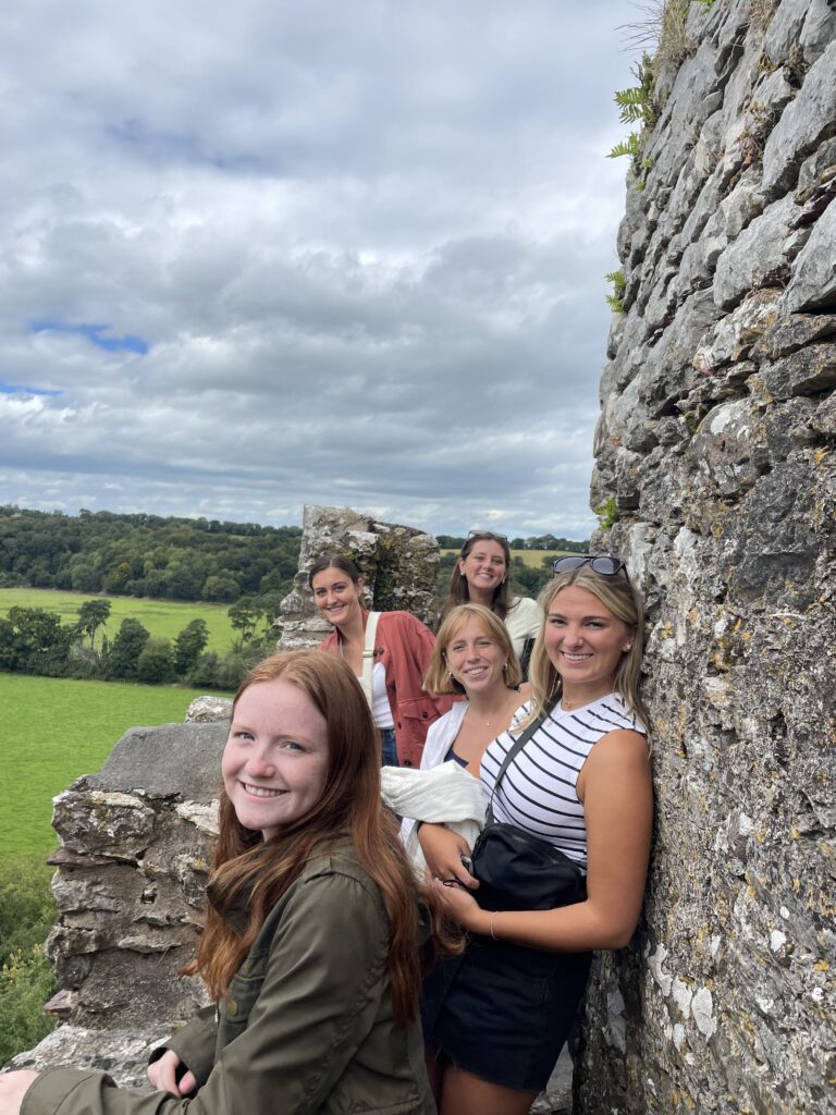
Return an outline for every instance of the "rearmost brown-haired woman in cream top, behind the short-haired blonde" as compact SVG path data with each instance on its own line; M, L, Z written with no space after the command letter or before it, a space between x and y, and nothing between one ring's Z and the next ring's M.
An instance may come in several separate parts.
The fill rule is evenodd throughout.
M450 574L450 586L441 608L444 620L457 604L484 604L508 629L514 653L527 673L531 646L542 619L536 600L511 593L511 546L504 534L470 531ZM526 643L528 650L526 652Z

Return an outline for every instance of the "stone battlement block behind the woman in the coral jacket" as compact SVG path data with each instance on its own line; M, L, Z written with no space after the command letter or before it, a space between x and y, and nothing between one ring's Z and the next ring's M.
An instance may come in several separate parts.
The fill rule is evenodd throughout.
M331 632L308 588L308 571L327 554L350 558L360 568L368 608L411 612L428 627L435 624L438 544L430 534L381 523L350 507L311 505L302 513L299 572L275 623L280 650L313 647Z

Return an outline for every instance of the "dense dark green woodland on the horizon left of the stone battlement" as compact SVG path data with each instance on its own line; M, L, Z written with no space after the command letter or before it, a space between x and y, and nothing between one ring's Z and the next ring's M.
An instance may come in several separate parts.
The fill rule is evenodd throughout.
M302 532L205 518L0 507L0 586L171 600L284 595Z

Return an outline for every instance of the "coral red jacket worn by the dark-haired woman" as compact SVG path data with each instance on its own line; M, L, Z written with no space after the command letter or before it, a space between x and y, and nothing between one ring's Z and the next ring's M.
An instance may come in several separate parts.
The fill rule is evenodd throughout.
M363 630L369 613L363 609ZM427 729L448 712L453 697L432 697L421 689L436 637L409 612L380 612L376 637L376 662L386 670L386 691L395 721L395 743L401 766L421 764ZM339 653L339 632L333 631L320 650Z

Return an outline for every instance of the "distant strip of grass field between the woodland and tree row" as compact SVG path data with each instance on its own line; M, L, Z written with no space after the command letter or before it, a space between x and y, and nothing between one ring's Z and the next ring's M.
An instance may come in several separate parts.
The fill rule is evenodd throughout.
M10 608L43 608L58 612L64 623L75 623L78 609L85 600L99 599L96 593L61 592L58 589L0 589L0 615L8 615ZM229 604L188 603L181 600L146 600L137 597L105 597L110 601L110 618L105 633L113 639L119 624L127 617L139 622L152 636L174 640L192 620L206 621L210 641L206 650L224 653L232 646L233 631ZM101 630L96 632L96 646L101 642Z

